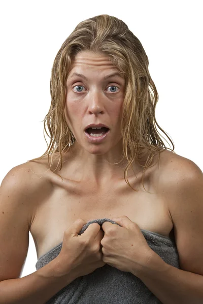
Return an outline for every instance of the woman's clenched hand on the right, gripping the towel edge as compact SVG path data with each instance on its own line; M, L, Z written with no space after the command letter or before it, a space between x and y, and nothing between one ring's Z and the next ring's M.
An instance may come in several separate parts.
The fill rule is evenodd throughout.
M101 240L103 261L124 272L138 275L147 265L153 254L156 254L147 244L139 226L127 216L112 218L104 222L104 238Z

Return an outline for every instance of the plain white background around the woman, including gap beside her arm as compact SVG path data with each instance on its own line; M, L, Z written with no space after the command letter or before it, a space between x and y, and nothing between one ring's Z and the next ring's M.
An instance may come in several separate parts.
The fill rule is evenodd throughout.
M141 41L159 94L157 122L175 152L203 169L201 1L18 0L1 2L0 11L0 182L13 167L45 152L42 121L54 58L79 22L100 14L123 20ZM21 277L35 272L36 262L29 233Z

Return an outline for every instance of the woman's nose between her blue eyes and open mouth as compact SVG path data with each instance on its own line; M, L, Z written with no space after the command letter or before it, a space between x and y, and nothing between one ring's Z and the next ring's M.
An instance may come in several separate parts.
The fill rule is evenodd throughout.
M103 114L104 113L104 102L98 91L94 91L88 96L87 104L88 104L88 113L89 114Z

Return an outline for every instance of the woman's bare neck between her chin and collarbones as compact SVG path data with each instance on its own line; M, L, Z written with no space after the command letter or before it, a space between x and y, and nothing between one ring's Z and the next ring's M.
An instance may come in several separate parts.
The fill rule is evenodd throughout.
M99 186L107 184L110 180L123 179L128 161L125 157L122 160L122 142L103 155L90 154L77 142L70 147L69 151L67 155L72 163L71 172L74 171L73 174L77 176L78 180L88 181ZM140 159L140 162L134 161L127 176L134 176L134 174L142 172L143 167L140 164L144 165L143 159ZM69 165L67 166L66 170L70 170Z

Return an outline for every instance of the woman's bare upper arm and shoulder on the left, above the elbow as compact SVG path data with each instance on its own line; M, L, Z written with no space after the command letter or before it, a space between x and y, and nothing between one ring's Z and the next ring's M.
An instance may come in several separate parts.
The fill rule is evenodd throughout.
M22 275L33 211L48 194L46 176L40 178L42 173L42 166L28 162L13 167L1 182L0 281Z

